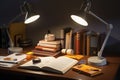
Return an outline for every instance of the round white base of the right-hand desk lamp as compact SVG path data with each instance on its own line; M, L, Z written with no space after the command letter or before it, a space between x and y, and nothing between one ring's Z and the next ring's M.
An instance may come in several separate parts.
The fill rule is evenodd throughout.
M96 65L96 66L103 66L107 64L106 58L93 56L88 58L88 64Z

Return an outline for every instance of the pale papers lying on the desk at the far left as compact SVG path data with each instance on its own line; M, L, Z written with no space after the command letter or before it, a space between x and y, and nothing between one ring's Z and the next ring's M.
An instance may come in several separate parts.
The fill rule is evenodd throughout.
M13 53L13 54L10 54L8 56L4 56L4 57L0 58L0 62L3 62L3 63L19 63L20 61L22 61L25 58L26 58L25 54Z

